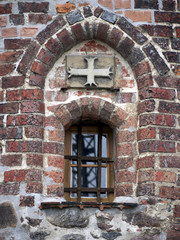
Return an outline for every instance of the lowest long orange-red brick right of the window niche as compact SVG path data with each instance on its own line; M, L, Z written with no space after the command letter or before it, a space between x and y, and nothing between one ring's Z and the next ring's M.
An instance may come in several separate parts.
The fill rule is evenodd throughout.
M168 171L141 171L139 172L139 183L147 181L157 181L157 182L176 182L176 174Z

